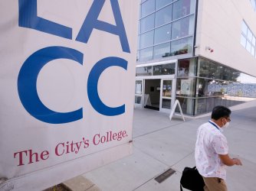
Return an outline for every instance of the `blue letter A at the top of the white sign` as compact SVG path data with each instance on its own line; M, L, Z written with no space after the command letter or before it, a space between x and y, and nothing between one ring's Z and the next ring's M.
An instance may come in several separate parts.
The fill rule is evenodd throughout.
M76 40L83 43L87 43L90 38L91 32L95 28L100 31L106 31L111 34L118 35L120 37L120 42L123 51L126 53L130 53L130 47L126 37L126 31L123 25L123 19L121 16L120 7L118 5L117 0L110 0L111 7L113 10L113 16L115 18L117 26L109 24L104 21L97 20L97 18L100 15L100 11L103 8L104 2L105 0L94 0L94 3L91 6L90 11L88 12L88 15L84 20L83 26L80 28Z

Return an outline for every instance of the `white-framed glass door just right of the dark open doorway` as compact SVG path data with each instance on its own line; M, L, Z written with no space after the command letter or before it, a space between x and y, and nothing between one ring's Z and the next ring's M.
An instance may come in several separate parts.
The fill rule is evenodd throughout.
M170 112L172 105L172 79L161 80L160 112Z

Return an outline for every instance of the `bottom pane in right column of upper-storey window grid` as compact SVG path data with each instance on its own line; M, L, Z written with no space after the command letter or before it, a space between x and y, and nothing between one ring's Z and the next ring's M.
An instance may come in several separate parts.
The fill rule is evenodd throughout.
M171 43L171 55L192 53L192 37L175 40Z

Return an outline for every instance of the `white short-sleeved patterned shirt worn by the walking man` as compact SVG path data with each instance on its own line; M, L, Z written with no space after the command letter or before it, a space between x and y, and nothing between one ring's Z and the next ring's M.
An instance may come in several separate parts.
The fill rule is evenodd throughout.
M228 154L228 141L222 131L213 121L201 125L197 131L195 164L202 176L226 179L226 165L218 157Z

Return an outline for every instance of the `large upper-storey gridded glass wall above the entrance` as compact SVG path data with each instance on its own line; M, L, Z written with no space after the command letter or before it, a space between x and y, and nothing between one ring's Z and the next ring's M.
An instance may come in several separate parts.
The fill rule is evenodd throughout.
M137 61L192 56L195 0L143 0L140 4Z

